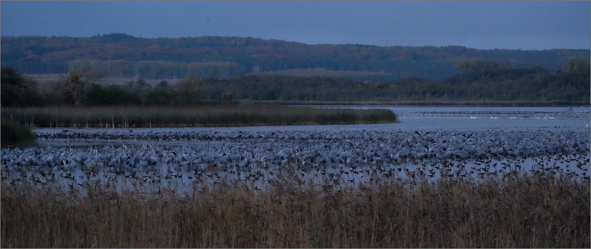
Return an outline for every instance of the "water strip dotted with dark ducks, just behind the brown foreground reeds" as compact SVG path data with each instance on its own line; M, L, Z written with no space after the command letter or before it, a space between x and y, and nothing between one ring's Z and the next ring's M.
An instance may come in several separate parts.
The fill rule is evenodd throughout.
M300 178L327 185L361 184L375 177L402 181L434 181L443 176L451 178L489 178L511 174L553 173L561 177L584 177L588 181L590 155L550 155L539 158L493 158L475 161L405 160L402 163L360 165L326 163L316 166L264 165L248 166L199 165L181 166L158 163L141 168L105 167L98 172L80 168L60 170L57 167L36 171L33 168L3 169L2 179L12 184L28 182L38 185L57 185L63 188L83 189L83 185L115 186L118 191L150 192L160 189L191 191L222 180L245 181L251 187L264 188L264 182L275 181L278 175ZM41 173L43 172L43 173ZM55 174L52 176L52 174Z

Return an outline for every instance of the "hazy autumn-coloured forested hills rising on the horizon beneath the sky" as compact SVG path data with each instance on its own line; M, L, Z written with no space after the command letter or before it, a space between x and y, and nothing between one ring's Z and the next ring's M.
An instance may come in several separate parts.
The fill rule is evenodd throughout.
M463 58L511 61L512 67L560 69L570 58L590 57L590 50L479 50L462 46L381 47L317 44L252 37L141 38L126 34L93 37L1 37L1 64L24 74L67 73L89 66L111 77L145 79L229 78L296 68L380 73L391 80L424 77L439 80L459 73ZM375 74L369 73L369 79ZM363 80L357 75L355 80Z

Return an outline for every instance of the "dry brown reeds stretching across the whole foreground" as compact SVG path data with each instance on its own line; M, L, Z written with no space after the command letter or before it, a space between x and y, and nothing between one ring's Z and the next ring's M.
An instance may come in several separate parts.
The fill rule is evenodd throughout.
M78 188L78 186L76 186ZM589 248L580 178L330 186L279 176L262 191L222 181L186 194L2 184L1 245L76 248ZM85 194L82 194L82 193Z

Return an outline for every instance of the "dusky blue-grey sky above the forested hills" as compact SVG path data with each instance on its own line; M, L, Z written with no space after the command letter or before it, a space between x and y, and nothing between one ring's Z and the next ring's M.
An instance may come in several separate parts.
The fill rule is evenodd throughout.
M591 1L0 1L1 35L110 33L589 49Z

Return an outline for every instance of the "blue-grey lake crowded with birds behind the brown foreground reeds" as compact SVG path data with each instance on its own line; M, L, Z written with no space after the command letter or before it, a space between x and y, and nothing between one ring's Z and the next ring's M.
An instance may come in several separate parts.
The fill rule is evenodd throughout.
M340 106L333 106L330 108L343 108ZM348 107L349 108L349 107ZM505 175L507 173L532 173L532 172L552 172L560 175L583 176L588 179L587 172L589 171L589 120L590 107L367 107L359 106L353 108L387 108L393 110L399 115L401 123L386 123L386 124L348 124L348 125L310 125L310 126L249 126L249 127L183 127L183 128L142 128L132 129L129 132L127 129L102 129L102 128L64 128L69 130L69 133L80 132L83 134L106 132L109 134L124 134L133 135L135 139L45 139L39 140L39 148L50 147L46 152L37 152L31 150L27 155L46 156L47 151L56 156L66 155L64 159L60 159L55 165L47 166L18 166L15 160L5 160L6 155L2 160L2 176L7 181L50 181L47 175L50 173L57 173L51 181L56 181L58 184L65 184L72 186L74 183L81 182L115 182L116 184L124 184L122 186L132 186L138 188L146 188L154 184L154 186L184 186L186 184L212 184L220 179L240 179L242 181L252 181L254 185L261 185L264 181L269 181L275 178L276 173L281 173L290 177L301 177L303 179L317 179L318 181L328 181L333 184L348 184L350 182L359 183L369 181L374 176L388 176L400 179L407 179L414 181L414 179L438 179L441 176L447 175L451 177L474 177L483 178L489 176ZM47 133L61 133L64 129L35 129L36 132ZM366 132L362 132L365 130ZM456 132L453 132L453 131ZM547 130L551 133L545 133ZM290 132L283 132L290 131ZM369 139L379 132L388 132L389 138L385 137L379 139ZM417 132L415 132L417 131ZM420 132L419 132L420 131ZM432 132L427 138L425 134L427 131ZM451 131L451 132L449 132ZM573 133L564 133L572 131ZM173 133L170 133L173 132ZM186 139L186 136L181 136L186 133L197 132L204 134L222 134L225 138L219 139ZM275 138L261 138L261 137L246 137L238 139L229 139L233 134L245 132L251 134L253 132L258 135L268 136L269 133L275 134L290 134L290 136L302 136L305 133L314 134L316 138L311 139L294 139L285 137L282 139ZM369 133L368 133L369 132ZM378 132L378 133L376 133ZM402 132L402 133L396 133ZM447 132L449 132L449 135ZM155 139L138 139L143 133L150 135L161 136L160 139L156 136ZM414 134L419 136L418 140L412 140L411 136ZM421 133L423 135L421 135ZM437 135L433 135L437 133ZM462 134L463 133L463 134ZM163 134L166 134L165 136ZM345 138L334 139L334 136L340 135L355 135L356 138L351 138L350 142L344 142ZM367 135L369 134L369 135ZM373 135L372 135L373 134ZM443 134L443 135L441 135ZM521 135L520 135L521 134ZM431 151L432 148L461 148L468 143L472 143L472 139L486 140L489 136L496 136L496 139L501 139L500 148L503 143L508 142L509 136L522 136L522 134L532 134L534 137L525 137L534 142L524 144L521 147L530 146L530 150L519 150L521 155L525 156L502 156L505 153L496 152L495 145L484 146L477 144L476 146L483 146L485 156L475 157L478 159L464 159L460 158L462 155L456 156L457 153L451 154L452 150L439 150L438 156L446 156L444 158L437 158L433 156L429 158L421 156L420 152ZM569 135L570 134L570 135ZM574 135L573 135L574 134ZM170 135L170 136L168 136ZM463 135L463 137L462 137ZM469 139L471 135L475 135ZM571 136L573 135L573 136ZM576 136L575 136L576 135ZM582 135L582 136L580 136ZM360 137L361 136L361 137ZM401 137L402 142L397 143L396 146L385 145L390 144L394 137ZM545 137L544 137L545 136ZM564 139L564 137L568 137ZM164 137L164 139L163 139ZM333 139L330 139L333 137ZM408 139L407 139L408 137ZM460 137L460 139L457 139ZM505 137L505 138L501 138ZM577 138L578 137L578 138ZM577 147L576 143L571 140L580 140L583 138L583 144ZM435 140L443 139L437 143ZM409 140L410 139L410 140ZM431 142L426 142L427 140ZM454 140L455 139L455 140ZM523 139L523 137L521 138ZM585 140L586 139L586 140ZM447 142L445 140L454 140L455 142ZM405 142L408 141L408 142ZM488 140L487 140L488 141ZM523 140L522 140L523 141ZM535 142L537 141L537 142ZM537 153L540 148L543 149L541 143L548 143L554 141L554 146L566 146L569 150L557 149L558 147L548 148L556 150L558 153L552 152L551 155L544 155L545 152L540 152L542 155L528 156L531 153ZM511 141L509 141L511 142ZM378 143L380 143L378 147ZM392 143L392 145L394 145ZM415 145L420 143L427 143L427 148L415 148ZM145 159L136 159L138 166L129 165L128 163L110 163L112 159L119 158L126 154L131 154L131 150L122 148L125 146L135 146L138 148L137 154L158 155L153 163L150 165L140 165L139 163ZM460 146L462 145L462 146ZM531 150L531 146L537 146L537 150ZM67 146L67 149L64 147ZM89 148L89 147L94 148ZM519 146L519 142L517 144ZM515 147L517 147L515 146ZM535 147L534 146L534 147ZM574 146L574 149L573 149ZM182 148L181 148L182 147ZM265 150L257 148L264 147ZM369 149L374 148L369 152ZM490 147L490 148L489 148ZM63 148L63 149L60 149ZM177 148L175 155L186 155L187 159L173 156L172 150ZM353 150L355 158L359 156L356 161L345 162L347 159L355 159L349 156L338 157L338 153ZM375 149L388 149L388 152L378 158L374 153ZM420 149L423 150L420 150ZM430 149L431 148L431 149ZM467 148L467 146L466 146ZM560 147L562 148L562 147ZM363 150L360 151L359 149ZM511 149L505 147L505 150ZM75 151L74 151L75 150ZM84 151L84 153L82 153ZM212 152L223 153L227 155L237 155L238 159L225 160L220 162L220 156L212 158ZM287 152L289 150L289 152ZM314 153L319 153L324 159L321 162L311 158L296 159L300 154L296 151L304 152L304 150ZM416 152L414 152L416 150ZM478 150L478 149L477 149ZM134 149L135 153L136 149ZM337 153L338 151L338 153ZM459 150L460 151L460 150ZM467 152L462 148L464 153ZM475 151L475 150L470 150ZM480 150L478 150L480 151ZM545 149L543 151L546 151ZM565 152L566 151L566 152ZM378 152L378 150L375 150ZM403 155L402 153L405 154ZM409 153L411 152L411 153ZM9 153L8 150L3 150L3 153ZM14 151L10 152L14 153ZM46 153L46 154L41 154ZM93 154L94 153L94 154ZM165 153L165 154L164 154ZM189 154L191 155L189 156ZM193 154L194 153L194 154ZM204 154L210 153L210 154ZM250 153L250 154L248 154ZM279 153L289 154L293 159L288 162L282 162ZM395 159L392 153L396 153ZM400 159L398 153L401 153ZM418 154L417 154L418 153ZM445 155L443 155L445 153ZM480 152L479 152L480 153ZM490 153L490 154L486 154ZM514 153L514 152L511 152ZM515 150L515 153L518 153ZM571 155L574 153L576 155ZM18 154L18 153L17 153ZM67 155L76 154L90 156L102 155L101 159L93 166L82 166L82 160L74 162L66 159ZM168 155L168 158L163 158L162 155ZM277 154L277 155L276 155ZM20 154L19 154L20 155ZM111 156L113 155L113 156ZM220 154L222 155L222 154ZM251 155L252 158L261 158L266 156L269 158L266 161L254 160L246 163L245 156ZM365 155L365 158L363 158ZM368 156L369 160L368 160ZM433 153L435 155L435 152ZM534 155L534 154L531 154ZM174 160L170 160L173 156ZM338 159L331 159L337 156ZM288 156L289 157L289 156ZM190 158L190 159L189 159ZM203 158L203 160L201 159ZM274 159L273 159L274 158ZM304 157L305 158L305 157ZM470 157L469 157L470 158ZM168 159L168 160L167 160ZM195 160L197 159L197 160ZM365 159L366 162L361 162ZM62 163L62 160L66 160ZM193 160L195 160L193 162ZM252 159L251 159L252 160ZM298 161L301 160L301 161ZM339 162L340 160L340 162ZM199 161L199 162L197 162ZM271 162L273 161L273 162ZM281 161L281 163L280 163ZM30 163L29 161L27 163ZM67 163L70 162L70 163ZM25 163L25 164L27 164ZM80 164L79 164L80 163ZM241 164L242 163L242 164ZM45 165L38 163L37 165ZM64 168L66 167L66 168ZM25 173L22 173L25 172ZM66 177L67 175L67 177ZM27 177L24 177L27 176ZM148 177L149 176L149 177Z

